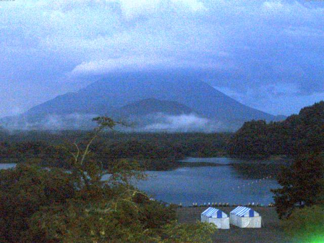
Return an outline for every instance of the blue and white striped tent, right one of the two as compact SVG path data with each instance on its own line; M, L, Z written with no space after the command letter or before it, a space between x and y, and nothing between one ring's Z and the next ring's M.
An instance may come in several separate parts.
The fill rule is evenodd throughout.
M229 215L230 223L240 228L261 228L261 216L247 207L236 207Z

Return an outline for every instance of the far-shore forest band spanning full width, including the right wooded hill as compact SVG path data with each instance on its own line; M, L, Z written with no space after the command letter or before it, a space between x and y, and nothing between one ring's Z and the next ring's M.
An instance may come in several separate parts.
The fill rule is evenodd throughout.
M42 159L43 165L62 167L63 143L86 139L85 131L18 131L0 128L0 161ZM265 158L275 154L294 157L324 150L324 102L301 109L284 121L248 121L230 133L105 133L93 145L98 159L146 160L148 169L173 168L185 156L211 157L228 154L241 158ZM156 160L159 160L156 161ZM152 161L155 160L155 165ZM159 163L159 165L156 165ZM172 165L173 164L173 165Z

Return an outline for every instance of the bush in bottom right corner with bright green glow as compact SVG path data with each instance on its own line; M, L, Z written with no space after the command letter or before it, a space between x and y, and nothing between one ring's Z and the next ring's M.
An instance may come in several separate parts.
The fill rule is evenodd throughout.
M296 242L322 242L324 240L324 206L296 209L282 226Z

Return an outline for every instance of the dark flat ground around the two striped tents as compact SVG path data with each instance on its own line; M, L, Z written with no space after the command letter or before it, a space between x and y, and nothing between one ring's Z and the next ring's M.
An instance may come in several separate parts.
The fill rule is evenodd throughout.
M227 215L233 207L218 207ZM194 223L200 220L200 214L206 208L185 207L177 210L177 217L180 223ZM290 242L282 232L275 208L254 207L255 211L262 216L262 228L241 229L230 225L230 229L220 229L214 235L215 243L288 243Z

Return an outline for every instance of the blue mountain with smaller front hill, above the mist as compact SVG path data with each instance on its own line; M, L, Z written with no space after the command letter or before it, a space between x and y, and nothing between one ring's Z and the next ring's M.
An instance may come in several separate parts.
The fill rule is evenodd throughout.
M128 117L152 113L194 113L231 128L252 119L281 119L241 104L195 76L171 73L107 75L75 93L37 105L22 117L35 123L71 114Z

